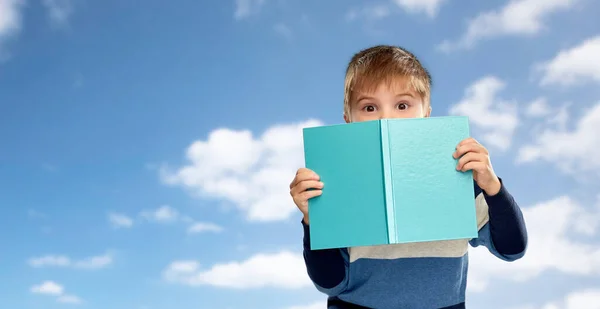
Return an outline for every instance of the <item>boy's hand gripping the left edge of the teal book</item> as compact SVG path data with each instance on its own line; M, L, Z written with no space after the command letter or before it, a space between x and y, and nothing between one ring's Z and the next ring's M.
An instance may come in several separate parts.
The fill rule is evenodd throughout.
M313 190L309 190L313 189ZM290 195L298 209L304 214L304 223L308 225L308 200L321 195L323 183L319 181L319 175L307 169L300 168L296 177L290 183Z

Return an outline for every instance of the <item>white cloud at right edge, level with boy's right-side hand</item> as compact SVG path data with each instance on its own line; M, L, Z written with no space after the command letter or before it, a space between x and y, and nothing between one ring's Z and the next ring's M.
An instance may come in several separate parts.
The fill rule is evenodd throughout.
M517 162L546 161L561 171L581 176L581 172L600 171L600 102L585 110L572 130L564 127L566 111L557 114L554 121L559 128L546 128L534 141L519 149Z

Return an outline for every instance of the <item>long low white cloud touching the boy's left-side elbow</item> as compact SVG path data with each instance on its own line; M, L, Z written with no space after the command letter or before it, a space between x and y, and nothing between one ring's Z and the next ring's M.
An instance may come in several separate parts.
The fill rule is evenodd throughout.
M302 254L287 251L256 254L242 262L216 264L206 270L196 261L176 261L163 276L171 283L232 289L298 289L312 285Z

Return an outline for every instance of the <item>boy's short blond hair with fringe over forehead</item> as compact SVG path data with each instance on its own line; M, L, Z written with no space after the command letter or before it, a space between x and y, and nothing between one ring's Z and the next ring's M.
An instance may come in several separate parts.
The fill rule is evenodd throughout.
M356 91L375 91L386 82L392 86L398 78L407 78L425 107L430 106L431 76L415 55L398 46L378 45L356 53L346 69L344 83L344 114L350 115Z

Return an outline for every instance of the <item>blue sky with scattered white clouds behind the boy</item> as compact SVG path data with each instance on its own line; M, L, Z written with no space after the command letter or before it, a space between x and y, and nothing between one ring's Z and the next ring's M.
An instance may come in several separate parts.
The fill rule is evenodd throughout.
M0 0L0 308L325 308L289 183L345 66L403 46L529 248L467 305L600 308L600 2Z

